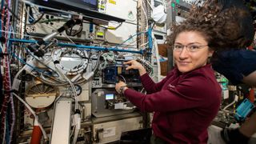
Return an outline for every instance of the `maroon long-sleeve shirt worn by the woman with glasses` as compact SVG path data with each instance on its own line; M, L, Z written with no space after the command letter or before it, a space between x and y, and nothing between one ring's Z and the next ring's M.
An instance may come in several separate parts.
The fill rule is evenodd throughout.
M161 82L141 76L147 94L126 89L124 94L142 111L154 112L154 135L168 143L206 143L207 127L216 116L222 89L210 65L182 74L171 70Z

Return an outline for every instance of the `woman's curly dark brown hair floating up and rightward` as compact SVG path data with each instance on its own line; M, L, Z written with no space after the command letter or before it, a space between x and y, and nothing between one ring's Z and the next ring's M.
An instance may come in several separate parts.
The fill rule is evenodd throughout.
M212 50L245 48L252 42L242 33L244 27L240 20L246 15L248 12L238 7L223 9L217 0L206 1L203 6L192 6L189 17L171 27L169 45L174 45L175 38L181 32L197 31L206 38Z

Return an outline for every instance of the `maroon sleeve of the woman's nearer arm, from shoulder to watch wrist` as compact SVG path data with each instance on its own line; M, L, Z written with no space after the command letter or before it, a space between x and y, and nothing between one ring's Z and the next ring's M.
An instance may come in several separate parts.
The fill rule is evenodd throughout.
M154 94L125 90L126 98L140 110L147 112L167 112L207 105L212 101L213 94L216 94L214 82L202 74L185 78L178 85L169 86Z

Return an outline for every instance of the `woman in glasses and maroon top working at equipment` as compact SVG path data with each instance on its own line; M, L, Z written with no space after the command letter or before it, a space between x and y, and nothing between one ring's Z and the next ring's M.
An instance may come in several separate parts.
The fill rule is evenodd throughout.
M218 46L213 12L218 14L220 9L210 7L206 13L208 9L194 7L194 17L174 26L170 46L176 66L161 82L154 83L140 63L125 62L126 70L139 71L147 94L129 89L124 82L115 89L140 110L154 112L152 143L207 142L207 127L218 113L222 95L207 64Z

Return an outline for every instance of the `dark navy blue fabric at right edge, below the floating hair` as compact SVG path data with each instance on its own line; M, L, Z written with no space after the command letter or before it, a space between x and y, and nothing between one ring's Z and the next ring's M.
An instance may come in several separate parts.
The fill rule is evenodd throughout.
M242 83L242 78L256 70L256 51L226 50L218 53L213 69L224 75L234 85Z

